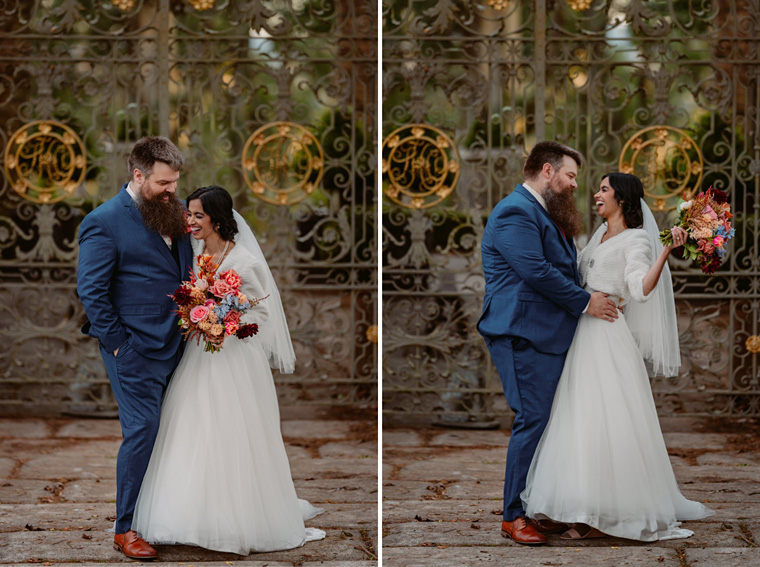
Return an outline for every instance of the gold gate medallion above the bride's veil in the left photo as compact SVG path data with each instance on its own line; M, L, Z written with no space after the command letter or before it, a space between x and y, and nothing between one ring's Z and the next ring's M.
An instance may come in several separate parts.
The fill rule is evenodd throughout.
M270 122L256 130L243 148L243 175L259 199L292 205L310 195L322 180L325 159L314 135L294 122Z

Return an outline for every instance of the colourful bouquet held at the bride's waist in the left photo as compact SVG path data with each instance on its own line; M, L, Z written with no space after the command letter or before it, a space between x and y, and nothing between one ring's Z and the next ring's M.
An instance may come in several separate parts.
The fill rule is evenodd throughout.
M240 323L241 317L254 305L266 299L249 299L240 291L242 281L235 270L217 275L219 268L210 256L198 256L198 277L190 273L190 281L182 282L174 295L182 334L205 342L206 352L217 352L229 336L244 339L259 332L255 323ZM267 296L269 297L269 296Z

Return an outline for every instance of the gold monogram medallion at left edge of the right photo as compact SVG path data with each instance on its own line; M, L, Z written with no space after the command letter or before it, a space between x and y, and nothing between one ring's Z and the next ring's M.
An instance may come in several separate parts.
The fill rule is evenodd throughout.
M383 142L385 195L410 209L443 201L459 179L459 153L451 138L427 124L408 124Z

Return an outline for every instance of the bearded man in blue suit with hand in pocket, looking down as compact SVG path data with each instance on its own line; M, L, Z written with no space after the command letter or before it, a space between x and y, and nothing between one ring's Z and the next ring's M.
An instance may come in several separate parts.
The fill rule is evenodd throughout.
M157 557L131 527L161 399L182 350L168 294L192 265L185 209L175 196L183 164L167 138L139 140L128 160L131 180L79 230L77 290L89 319L82 332L100 343L123 436L114 547L131 559Z

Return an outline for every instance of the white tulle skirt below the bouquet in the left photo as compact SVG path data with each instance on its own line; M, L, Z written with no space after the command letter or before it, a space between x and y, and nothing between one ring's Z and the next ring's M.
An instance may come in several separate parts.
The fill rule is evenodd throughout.
M189 342L164 397L132 529L147 541L248 555L322 539L304 520L272 372L255 338L218 353Z

